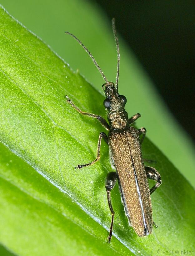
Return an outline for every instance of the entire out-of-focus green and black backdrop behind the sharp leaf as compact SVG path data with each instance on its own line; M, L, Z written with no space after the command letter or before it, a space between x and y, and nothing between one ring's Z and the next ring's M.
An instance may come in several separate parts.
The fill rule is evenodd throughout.
M117 54L111 27L115 17L121 51L119 93L127 97L126 110L129 116L141 113L137 126L146 127L148 138L195 185L194 1L1 0L1 4L101 93L101 75L64 31L83 41L108 80L115 81Z

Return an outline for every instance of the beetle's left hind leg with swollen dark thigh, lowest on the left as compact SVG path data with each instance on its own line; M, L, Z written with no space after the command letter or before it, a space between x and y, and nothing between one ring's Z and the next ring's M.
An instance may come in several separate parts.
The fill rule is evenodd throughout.
M112 238L114 213L115 213L114 210L113 210L113 207L112 207L112 203L111 203L110 191L115 186L117 178L118 178L118 176L117 176L116 172L109 172L107 177L106 177L106 180L105 180L105 187L106 187L106 192L107 192L108 205L109 205L109 208L110 208L110 212L112 214L110 232L109 232L109 236L108 236L108 243L110 243L110 240Z

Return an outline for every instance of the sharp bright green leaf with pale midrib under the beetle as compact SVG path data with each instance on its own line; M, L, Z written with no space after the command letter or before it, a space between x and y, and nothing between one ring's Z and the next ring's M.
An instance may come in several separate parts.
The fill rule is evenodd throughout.
M194 190L147 139L143 156L157 161L153 166L163 181L152 194L158 229L145 238L134 233L117 185L112 193L114 235L107 243L107 145L103 142L98 163L73 168L95 159L104 129L64 100L69 95L82 110L106 117L103 95L2 8L0 28L3 247L17 255L151 256L163 249L192 250Z

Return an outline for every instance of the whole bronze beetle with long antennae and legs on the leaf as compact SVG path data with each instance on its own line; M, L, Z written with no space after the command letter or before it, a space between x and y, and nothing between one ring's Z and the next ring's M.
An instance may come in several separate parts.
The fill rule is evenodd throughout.
M114 38L117 46L118 61L117 61L117 76L116 83L109 82L103 71L100 69L93 55L85 47L85 45L73 34L71 35L78 41L83 49L92 58L93 63L106 81L102 85L106 99L103 101L104 107L108 110L108 122L100 115L94 115L81 111L66 95L67 102L82 115L88 115L96 118L106 130L108 136L104 132L100 132L98 139L97 158L83 165L78 165L76 168L83 168L90 166L100 159L100 146L102 138L106 141L109 147L109 155L111 166L115 172L109 172L106 180L105 187L107 192L108 205L112 214L110 231L108 235L108 242L112 238L114 210L111 203L111 190L118 180L119 190L124 205L124 210L128 218L129 225L131 225L138 236L143 237L152 233L153 218L152 218L152 205L150 195L161 185L161 177L157 170L150 166L144 166L144 159L142 157L141 144L146 135L146 129L136 129L131 126L141 115L137 113L131 118L128 118L128 113L124 107L127 102L125 96L118 93L118 78L119 78L119 65L120 65L120 52L118 37L115 28L115 20L112 20L112 27ZM139 136L142 135L140 140ZM147 160L145 160L147 161ZM156 184L149 189L148 180L156 181ZM156 226L156 225L155 225ZM157 226L156 226L157 227Z

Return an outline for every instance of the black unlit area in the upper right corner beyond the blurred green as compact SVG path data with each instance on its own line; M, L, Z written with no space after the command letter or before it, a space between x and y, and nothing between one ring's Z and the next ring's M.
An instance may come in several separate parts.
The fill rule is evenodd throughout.
M94 0L153 80L177 121L195 140L195 2Z

